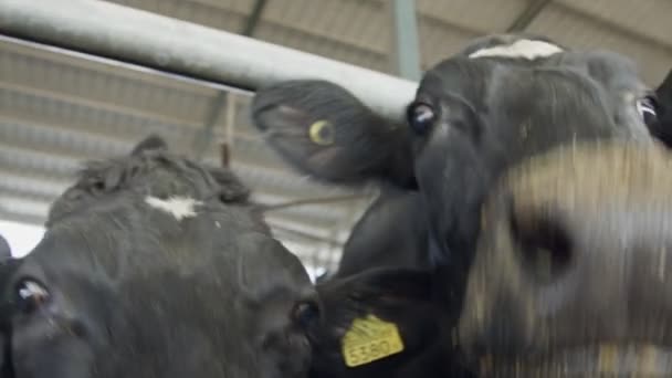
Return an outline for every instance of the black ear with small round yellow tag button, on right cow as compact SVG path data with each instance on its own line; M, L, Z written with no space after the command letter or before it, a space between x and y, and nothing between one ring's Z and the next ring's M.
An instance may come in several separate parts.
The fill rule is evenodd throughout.
M252 118L272 148L314 178L414 186L407 127L378 116L338 85L302 80L261 88Z

